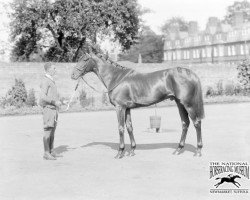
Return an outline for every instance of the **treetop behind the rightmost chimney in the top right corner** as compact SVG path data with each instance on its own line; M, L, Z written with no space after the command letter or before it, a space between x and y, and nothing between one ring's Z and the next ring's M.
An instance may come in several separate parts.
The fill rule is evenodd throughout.
M224 17L224 22L233 24L233 16L236 12L243 12L243 17L250 21L250 3L248 1L235 1L233 5L227 7L227 14Z

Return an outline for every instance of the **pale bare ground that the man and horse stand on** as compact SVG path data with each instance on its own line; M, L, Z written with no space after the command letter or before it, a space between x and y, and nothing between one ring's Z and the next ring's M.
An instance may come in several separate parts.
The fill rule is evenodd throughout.
M56 161L42 159L41 115L2 117L0 199L250 199L249 194L209 192L216 183L209 179L210 162L250 163L250 103L206 105L205 112L202 157L193 156L193 126L185 151L172 155L181 122L176 107L165 107L157 109L159 133L149 129L154 109L132 111L136 155L118 160L115 111L60 114ZM129 149L127 133L125 139ZM247 179L241 185L250 189Z

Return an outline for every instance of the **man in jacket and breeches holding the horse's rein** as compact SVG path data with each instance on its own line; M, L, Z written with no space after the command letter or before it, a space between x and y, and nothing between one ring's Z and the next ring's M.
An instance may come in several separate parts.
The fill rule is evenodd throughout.
M54 136L58 119L58 110L61 106L57 87L55 84L56 68L52 63L44 65L45 76L41 84L41 96L39 104L43 108L43 144L44 156L46 160L56 160L54 148Z

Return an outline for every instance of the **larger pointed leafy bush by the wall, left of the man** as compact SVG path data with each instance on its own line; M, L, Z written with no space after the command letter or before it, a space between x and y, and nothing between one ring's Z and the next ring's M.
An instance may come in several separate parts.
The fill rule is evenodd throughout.
M22 107L27 101L27 90L22 79L15 79L15 84L7 92L5 106Z

